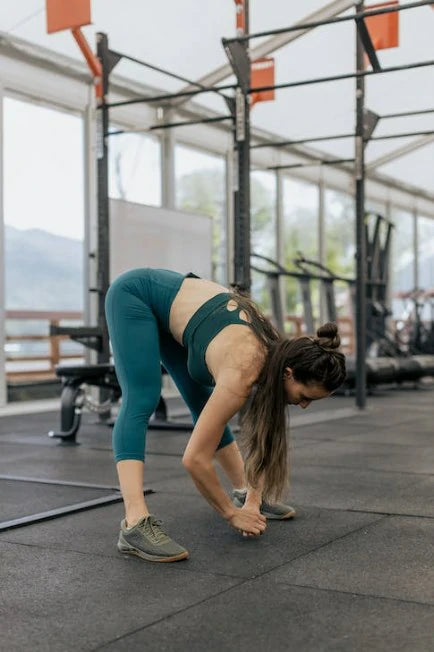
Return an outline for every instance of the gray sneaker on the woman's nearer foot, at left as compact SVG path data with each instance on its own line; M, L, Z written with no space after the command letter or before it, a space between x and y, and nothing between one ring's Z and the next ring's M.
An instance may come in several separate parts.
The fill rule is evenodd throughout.
M152 514L130 529L126 528L125 520L121 521L118 550L147 561L179 561L188 557L188 551L167 536L161 521Z

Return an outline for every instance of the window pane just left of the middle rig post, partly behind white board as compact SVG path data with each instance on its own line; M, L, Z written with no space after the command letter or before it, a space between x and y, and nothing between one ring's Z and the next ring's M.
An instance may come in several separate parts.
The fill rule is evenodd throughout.
M227 284L226 165L221 156L184 145L175 149L176 207L213 219L213 279Z

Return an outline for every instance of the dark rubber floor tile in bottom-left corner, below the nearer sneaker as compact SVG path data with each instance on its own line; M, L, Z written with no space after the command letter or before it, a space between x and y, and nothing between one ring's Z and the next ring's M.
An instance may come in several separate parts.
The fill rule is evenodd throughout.
M96 554L0 542L4 650L92 650L239 580Z

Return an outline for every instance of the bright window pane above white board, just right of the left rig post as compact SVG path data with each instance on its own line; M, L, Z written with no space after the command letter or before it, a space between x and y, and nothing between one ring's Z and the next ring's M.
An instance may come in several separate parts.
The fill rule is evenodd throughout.
M110 197L160 206L160 142L152 136L134 133L110 136L108 142Z

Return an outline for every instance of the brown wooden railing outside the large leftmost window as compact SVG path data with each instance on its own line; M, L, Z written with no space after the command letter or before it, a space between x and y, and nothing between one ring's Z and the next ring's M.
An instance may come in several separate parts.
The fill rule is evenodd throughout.
M42 321L47 323L46 334L24 333L15 335L8 328L8 320ZM50 335L50 326L59 326L62 321L83 320L83 313L77 311L42 311L42 310L7 310L6 343L48 342L45 355L13 355L6 352L6 377L8 381L48 380L55 378L55 367L64 360L82 360L82 353L65 354L61 351L61 341L69 340L67 335ZM13 363L19 363L20 369L12 369ZM28 363L28 366L22 363ZM35 363L40 363L35 368ZM33 368L32 368L33 367Z

